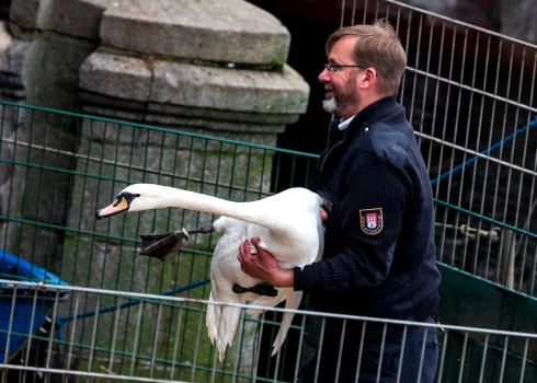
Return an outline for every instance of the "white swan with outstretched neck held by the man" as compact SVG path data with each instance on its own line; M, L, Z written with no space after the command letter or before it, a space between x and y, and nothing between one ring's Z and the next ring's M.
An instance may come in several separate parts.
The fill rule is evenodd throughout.
M237 259L239 244L252 236L261 239L260 246L272 253L282 268L304 267L320 258L323 251L323 232L320 218L321 197L306 188L289 188L279 194L251 202L232 202L226 199L153 184L135 184L117 195L111 206L96 212L106 218L125 211L159 208L183 208L221 216L214 223L214 231L222 234L218 240L210 264L212 302L245 303L275 306L286 301L286 309L298 309L301 291L277 288L276 297L254 292L236 293L233 286L251 288L263 283L244 274ZM255 248L251 246L252 252ZM262 311L249 310L249 314ZM294 313L284 313L273 344L274 356L282 346L293 321ZM208 336L216 345L220 362L230 346L240 309L209 304L206 325Z

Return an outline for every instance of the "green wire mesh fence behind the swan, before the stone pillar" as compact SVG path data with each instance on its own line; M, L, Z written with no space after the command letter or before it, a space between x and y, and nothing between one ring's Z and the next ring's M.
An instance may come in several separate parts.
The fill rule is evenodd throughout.
M156 376L170 376L167 375L170 370L162 367L161 372L159 367L153 371L150 364L151 360L162 358L188 371L183 369L181 374L176 372L172 375L175 378L167 379L185 381L191 375L195 375L196 381L202 375L205 378L199 380L210 381L215 373L224 381L228 375L233 380L233 375L238 376L239 372L243 375L244 369L254 365L252 350L255 338L260 337L256 322L243 320L238 332L241 338L236 336L229 356L220 364L214 359L215 349L207 332L199 330L202 324L205 328L201 321L206 306L190 305L181 311L165 304L141 304L139 309L130 301L122 302L104 294L113 290L207 299L210 256L217 239L191 237L178 257L161 263L139 256L138 234L194 228L213 222L215 217L160 209L96 221L95 211L110 205L125 186L139 182L229 200L256 200L278 189L297 186L295 172L309 173L317 155L10 103L2 103L0 127L0 248L16 256L12 264L8 264L7 258L0 260L0 277L43 280L43 275L49 272L69 286L103 291L101 294L69 294L59 304L50 299L42 303L39 299L14 305L10 303L10 295L21 294L2 286L2 315L10 315L0 328L0 335L8 339L8 344L0 341L0 349L4 348L1 362L7 368L1 375L3 382L15 379L9 375L13 367L7 367L8 361L22 360L28 368L26 371L52 368L43 364L39 348L24 349L34 356L28 359L10 350L9 345L14 336L21 340L30 330L39 332L35 323L39 316L32 316L32 304L45 303L48 305L42 307L39 315L46 309L57 309L61 315L59 322L55 318L50 325L54 349L61 343L72 344L77 352L75 359L84 363L81 371L85 371L88 378L101 373L110 379L118 374L153 375L153 380L160 380ZM282 163L287 167L285 178L278 171ZM24 266L27 271L24 278L20 275L22 259L31 263ZM34 276L37 267L46 272ZM184 315L178 324L180 312ZM18 324L13 330L13 324L20 321L23 324ZM268 324L273 322L273 318L266 320ZM158 332L155 332L156 323L160 326ZM176 326L181 326L182 333L175 333ZM72 332L68 338L59 335L66 332ZM88 355L89 346L96 355ZM270 347L265 351L270 352ZM231 357L237 352L241 355L240 362ZM151 357L147 359L147 356ZM281 362L277 368L284 364ZM128 367L129 372L116 372L117 365L121 371ZM263 372L259 376L273 374L274 359L263 359L260 365ZM102 367L108 370L103 371ZM16 375L16 379L22 378Z

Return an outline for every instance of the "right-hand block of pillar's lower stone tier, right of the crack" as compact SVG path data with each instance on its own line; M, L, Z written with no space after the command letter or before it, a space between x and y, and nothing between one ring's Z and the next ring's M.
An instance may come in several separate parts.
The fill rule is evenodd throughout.
M290 67L283 72L157 61L151 101L247 113L301 114L309 85Z

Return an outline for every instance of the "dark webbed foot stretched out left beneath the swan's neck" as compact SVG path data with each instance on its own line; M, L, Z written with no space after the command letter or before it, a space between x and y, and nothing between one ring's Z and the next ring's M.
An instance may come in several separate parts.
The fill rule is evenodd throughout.
M212 224L203 225L194 230L176 230L165 234L140 234L141 237L141 252L140 255L147 255L148 257L158 258L164 262L179 252L183 240L188 240L190 234L208 234L213 233L215 229Z

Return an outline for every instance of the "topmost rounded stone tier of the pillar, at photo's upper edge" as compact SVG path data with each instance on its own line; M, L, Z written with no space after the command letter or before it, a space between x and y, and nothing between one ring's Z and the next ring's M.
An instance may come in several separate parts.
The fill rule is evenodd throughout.
M103 15L105 46L192 60L281 66L290 35L243 0L116 1Z

